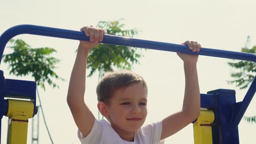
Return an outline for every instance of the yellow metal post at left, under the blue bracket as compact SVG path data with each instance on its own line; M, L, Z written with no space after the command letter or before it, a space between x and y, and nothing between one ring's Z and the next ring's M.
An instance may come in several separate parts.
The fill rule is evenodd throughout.
M33 101L8 99L7 144L26 144L28 119L33 117Z

